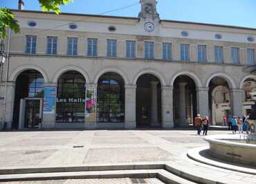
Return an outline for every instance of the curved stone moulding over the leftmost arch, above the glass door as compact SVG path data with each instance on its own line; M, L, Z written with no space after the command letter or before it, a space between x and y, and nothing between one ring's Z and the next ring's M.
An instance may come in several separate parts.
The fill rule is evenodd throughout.
M19 76L20 73L22 73L23 71L27 71L27 70L36 70L39 73L41 73L44 77L44 83L48 83L48 76L46 74L46 72L44 71L43 68L40 68L39 66L33 65L33 64L26 64L26 65L22 65L19 66L18 68L15 69L15 71L12 71L11 75L10 75L10 81L15 82L17 77Z

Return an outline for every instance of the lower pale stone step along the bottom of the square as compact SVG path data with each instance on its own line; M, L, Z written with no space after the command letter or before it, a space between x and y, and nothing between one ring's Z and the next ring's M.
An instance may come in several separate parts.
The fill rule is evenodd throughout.
M193 184L184 178L171 174L164 169L132 169L111 170L98 172L50 172L33 174L7 174L0 175L0 182L4 181L46 181L63 179L86 178L158 178L164 183Z

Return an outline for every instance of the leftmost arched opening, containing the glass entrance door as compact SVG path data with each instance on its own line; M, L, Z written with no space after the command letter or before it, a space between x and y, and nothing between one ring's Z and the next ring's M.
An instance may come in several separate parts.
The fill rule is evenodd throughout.
M37 128L42 120L44 77L39 71L26 70L19 74L15 86L12 128Z

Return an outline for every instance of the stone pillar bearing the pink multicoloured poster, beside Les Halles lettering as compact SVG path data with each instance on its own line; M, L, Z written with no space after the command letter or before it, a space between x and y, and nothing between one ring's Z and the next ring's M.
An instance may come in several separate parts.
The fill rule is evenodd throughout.
M97 127L97 86L98 84L85 84L85 129L95 129Z

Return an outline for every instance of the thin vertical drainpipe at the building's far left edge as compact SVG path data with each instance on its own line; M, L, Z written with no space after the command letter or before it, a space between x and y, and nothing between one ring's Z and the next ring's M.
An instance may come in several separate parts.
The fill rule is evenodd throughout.
M7 48L7 59L6 59L6 85L4 91L4 103L3 103L3 123L6 123L6 96L7 96L7 83L8 83L8 74L9 74L9 67L10 67L10 28L8 28L8 48ZM5 125L3 125L5 127Z

